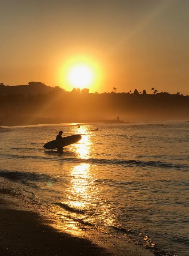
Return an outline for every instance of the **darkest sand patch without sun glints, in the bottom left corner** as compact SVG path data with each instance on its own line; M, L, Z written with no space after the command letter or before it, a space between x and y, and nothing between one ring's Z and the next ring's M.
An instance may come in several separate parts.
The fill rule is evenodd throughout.
M48 226L38 214L0 210L0 255L109 255L86 239Z

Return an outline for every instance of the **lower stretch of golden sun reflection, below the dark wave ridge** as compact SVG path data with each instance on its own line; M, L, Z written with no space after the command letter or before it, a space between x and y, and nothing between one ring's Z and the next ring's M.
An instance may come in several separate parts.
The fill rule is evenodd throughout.
M64 231L81 236L79 220L86 221L86 211L91 202L92 184L89 163L81 163L72 168L68 188L65 191L67 200L62 202L69 209L67 212L62 212L62 220L66 224L62 227Z

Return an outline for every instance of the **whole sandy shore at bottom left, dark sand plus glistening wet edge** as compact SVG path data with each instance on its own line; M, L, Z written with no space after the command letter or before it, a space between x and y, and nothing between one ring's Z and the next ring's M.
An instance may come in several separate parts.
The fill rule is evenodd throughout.
M153 256L149 250L80 225L80 235L61 230L49 206L0 177L0 256ZM62 225L66 225L62 223Z

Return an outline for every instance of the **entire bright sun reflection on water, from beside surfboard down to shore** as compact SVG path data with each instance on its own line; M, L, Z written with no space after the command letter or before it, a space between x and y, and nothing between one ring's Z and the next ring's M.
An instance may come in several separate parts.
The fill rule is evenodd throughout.
M88 126L73 127L73 133L82 135L82 139L72 144L70 151L74 151L78 158L88 159L91 157L92 142L91 132ZM110 205L102 202L99 197L98 185L94 182L97 177L92 171L94 168L90 163L73 165L68 174L68 186L65 191L65 200L61 202L64 206L62 219L66 223L64 230L79 236L80 223L96 224L96 218L100 218L103 225L114 225L113 214L110 214ZM96 211L95 209L98 209ZM101 213L99 216L99 213Z

